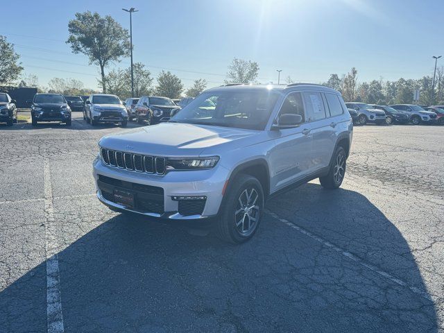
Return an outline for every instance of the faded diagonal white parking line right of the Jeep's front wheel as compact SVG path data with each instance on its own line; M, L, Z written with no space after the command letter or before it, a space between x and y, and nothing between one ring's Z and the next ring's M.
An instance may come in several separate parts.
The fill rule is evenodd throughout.
M327 246L328 248L335 250L337 253L340 253L344 257L347 257L348 259L356 262L357 264L370 269L370 271L373 271L373 272L383 276L384 278L391 280L392 282L395 282L395 284L399 284L402 287L407 287L408 289L413 291L413 293L416 293L416 294L422 296L423 298L426 298L427 300L432 300L432 297L429 295L429 293L427 293L427 291L424 291L424 290L419 289L417 287L411 286L407 282L404 282L403 280L396 278L395 276L391 275L390 273L382 271L382 269L378 268L377 266L374 266L372 264L368 264L367 262L364 262L364 260L357 257L356 255L353 255L352 253L350 253L346 250L343 250L342 248L339 248L338 246L335 246L334 244L330 243L330 241L326 241L325 239L317 236L316 234L309 232L308 230L305 230L304 228L301 228L299 225L296 225L293 222L290 222L286 219L282 219L280 216L276 215L273 212L270 212L269 210L265 210L265 212L266 212L266 214L272 216L274 219L277 219L278 221L288 225L290 228L293 228L294 230L298 230L298 232L300 232L301 234L305 234L306 236L310 237L311 239L318 241L318 243L321 243L321 244Z

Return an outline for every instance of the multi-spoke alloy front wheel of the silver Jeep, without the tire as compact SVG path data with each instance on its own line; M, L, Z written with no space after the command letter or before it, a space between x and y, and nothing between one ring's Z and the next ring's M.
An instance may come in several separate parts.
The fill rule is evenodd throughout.
M253 233L259 221L260 208L257 200L259 200L259 194L254 187L244 189L237 200L234 221L237 231L244 236Z

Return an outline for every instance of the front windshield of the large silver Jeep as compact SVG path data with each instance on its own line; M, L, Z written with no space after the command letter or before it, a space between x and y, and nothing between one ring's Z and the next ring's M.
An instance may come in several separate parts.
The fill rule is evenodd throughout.
M263 92L207 92L191 101L171 121L264 130L278 94Z

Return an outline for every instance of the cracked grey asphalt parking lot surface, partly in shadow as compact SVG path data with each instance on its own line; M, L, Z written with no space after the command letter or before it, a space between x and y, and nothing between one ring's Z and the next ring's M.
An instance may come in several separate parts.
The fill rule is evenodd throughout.
M444 332L443 126L356 127L342 188L273 198L241 246L101 205L119 130L0 124L1 333Z

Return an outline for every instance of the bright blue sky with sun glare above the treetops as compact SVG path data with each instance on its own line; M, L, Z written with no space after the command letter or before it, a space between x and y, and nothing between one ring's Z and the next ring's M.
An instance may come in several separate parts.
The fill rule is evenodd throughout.
M2 16L0 34L40 85L77 78L97 89L98 69L65 44L67 23L91 10L129 28L121 8L130 7L139 10L134 61L153 76L170 69L185 87L196 78L221 85L234 57L258 62L262 83L277 83L276 69L281 78L319 83L353 66L359 81L420 78L432 74L432 56L444 56L442 0L7 1L12 15Z

